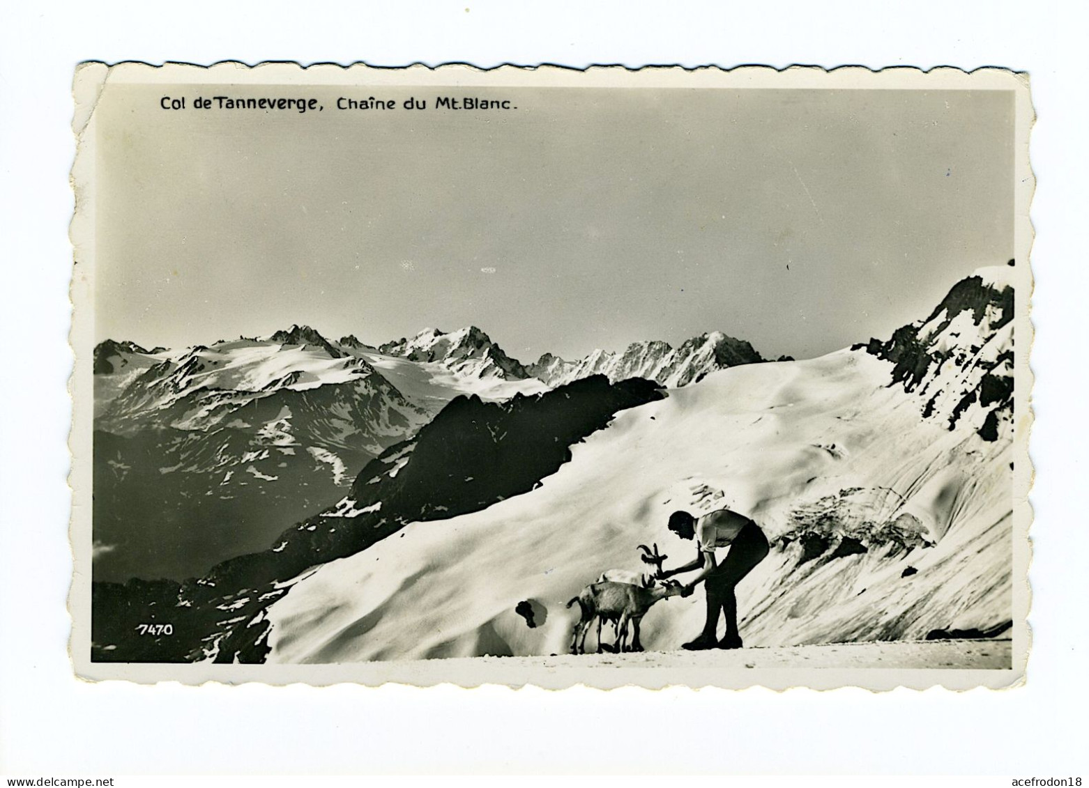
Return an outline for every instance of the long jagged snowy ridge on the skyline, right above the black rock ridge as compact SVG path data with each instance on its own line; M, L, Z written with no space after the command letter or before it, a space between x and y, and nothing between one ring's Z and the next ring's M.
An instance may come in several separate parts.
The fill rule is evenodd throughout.
M565 361L547 353L529 365L526 371L549 385L570 383L590 374L604 374L613 382L646 378L675 389L715 370L762 360L748 342L712 331L676 348L665 342L638 342L622 354L595 350L578 361Z

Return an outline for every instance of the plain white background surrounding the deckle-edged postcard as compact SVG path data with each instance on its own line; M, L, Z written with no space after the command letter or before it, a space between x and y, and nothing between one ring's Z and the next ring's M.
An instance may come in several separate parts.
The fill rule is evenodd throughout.
M467 8L467 10L466 10ZM1080 3L147 2L0 11L0 773L1089 777ZM1002 65L1031 73L1035 642L1026 687L818 693L135 687L66 656L70 85L82 60ZM1006 780L998 785L1010 785Z

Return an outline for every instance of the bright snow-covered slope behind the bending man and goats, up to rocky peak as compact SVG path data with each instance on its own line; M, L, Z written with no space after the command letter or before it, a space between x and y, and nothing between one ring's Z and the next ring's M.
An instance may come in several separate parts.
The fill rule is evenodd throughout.
M977 394L953 419L920 398L951 381L957 402L993 385L982 380L1012 352L1012 291L986 281L959 283L935 325L915 327L930 357L915 385L900 372L909 354L861 349L712 373L621 413L530 492L409 524L299 579L262 614L268 658L562 653L574 623L564 603L584 584L639 568L639 543L661 545L668 566L688 561L695 549L665 529L669 513L722 504L773 540L738 589L747 644L1002 630L1012 448L992 414L1008 401ZM993 435L980 431L988 420ZM522 601L543 611L539 626L515 613ZM643 641L676 649L701 617L701 594L662 602Z

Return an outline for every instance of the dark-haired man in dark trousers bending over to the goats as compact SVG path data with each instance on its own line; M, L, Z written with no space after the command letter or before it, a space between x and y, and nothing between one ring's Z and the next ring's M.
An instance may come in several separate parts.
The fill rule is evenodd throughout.
M756 522L730 509L712 512L699 520L687 512L674 512L670 515L669 528L681 539L695 539L699 552L690 563L662 571L659 577L666 578L699 569L699 574L685 584L684 595L690 595L700 582L705 583L707 590L707 621L703 624L703 631L683 648L689 651L741 649L737 596L734 589L768 555L768 538ZM717 563L714 551L726 546L730 552L721 564ZM715 638L720 610L726 617L726 633L721 641Z

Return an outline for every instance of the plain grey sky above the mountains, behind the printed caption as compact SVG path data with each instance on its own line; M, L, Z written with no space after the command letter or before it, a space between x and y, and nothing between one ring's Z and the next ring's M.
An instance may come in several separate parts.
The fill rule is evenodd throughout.
M296 88L322 112L97 109L96 335L180 347L307 323L476 324L524 361L720 330L810 357L1013 256L1013 96ZM338 96L428 99L337 111Z

